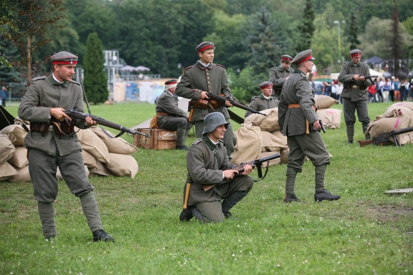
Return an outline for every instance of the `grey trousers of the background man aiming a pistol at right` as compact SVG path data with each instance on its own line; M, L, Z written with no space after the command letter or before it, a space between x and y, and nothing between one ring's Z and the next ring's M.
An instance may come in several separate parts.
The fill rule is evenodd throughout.
M347 140L353 140L354 123L356 122L355 111L357 117L362 123L363 134L367 130L367 125L370 123L368 117L367 100L351 101L350 98L343 98L344 121L346 122Z

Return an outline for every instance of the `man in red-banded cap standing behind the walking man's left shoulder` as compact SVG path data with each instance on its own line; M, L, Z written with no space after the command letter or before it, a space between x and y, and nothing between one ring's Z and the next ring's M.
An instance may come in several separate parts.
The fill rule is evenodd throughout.
M290 68L292 57L285 54L281 56L280 66L271 68L270 81L272 82L272 96L280 100L281 89L284 82L292 75L293 70Z

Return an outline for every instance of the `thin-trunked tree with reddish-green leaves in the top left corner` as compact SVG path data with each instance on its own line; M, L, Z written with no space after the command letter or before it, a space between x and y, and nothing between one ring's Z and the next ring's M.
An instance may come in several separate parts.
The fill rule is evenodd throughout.
M26 56L27 83L32 78L32 52L37 48L48 44L50 38L44 34L53 28L63 28L57 22L64 17L62 0L16 0L11 10L15 12L16 26L19 31L12 36L12 41ZM18 16L17 16L18 15ZM33 67L42 65L35 62Z

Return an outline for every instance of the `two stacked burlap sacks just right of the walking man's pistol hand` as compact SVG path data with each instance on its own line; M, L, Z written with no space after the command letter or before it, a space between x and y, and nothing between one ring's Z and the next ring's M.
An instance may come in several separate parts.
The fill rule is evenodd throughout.
M316 94L314 97L316 106L318 106L317 115L323 121L324 127L329 129L340 128L341 110L330 108L338 102L331 96Z

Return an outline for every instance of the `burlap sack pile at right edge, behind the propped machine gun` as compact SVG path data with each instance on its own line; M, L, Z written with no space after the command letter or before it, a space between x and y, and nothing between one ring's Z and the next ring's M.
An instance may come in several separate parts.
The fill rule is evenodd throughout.
M413 102L398 102L386 108L384 114L370 122L366 134L371 139L380 134L413 126ZM413 143L413 132L397 136L401 145ZM391 138L393 141L393 138Z

